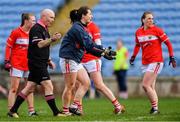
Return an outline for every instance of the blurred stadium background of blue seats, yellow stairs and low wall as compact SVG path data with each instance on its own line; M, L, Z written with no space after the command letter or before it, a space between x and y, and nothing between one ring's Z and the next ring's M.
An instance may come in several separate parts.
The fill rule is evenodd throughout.
M12 29L20 25L21 13L34 13L39 19L42 9L50 8L56 12L55 22L50 33L67 32L70 25L69 12L72 9L88 5L92 8L93 21L100 27L102 44L116 49L116 41L122 39L131 56L134 48L134 33L141 25L141 16L144 11L154 13L155 23L162 27L173 44L177 60L177 68L172 69L169 63L169 54L163 44L164 68L157 82L161 96L180 96L180 1L179 0L1 0L0 1L0 65L3 67L6 39ZM57 68L52 73L54 83L62 81L59 67L58 51L60 42L51 47L51 57ZM102 74L105 83L117 92L117 84L113 76L113 61L102 58ZM128 87L130 96L143 95L141 86L141 53L138 54L135 65L128 70ZM0 70L0 84L8 88L8 73ZM56 82L57 81L57 82ZM58 87L63 88L62 84ZM55 88L61 92L59 88Z

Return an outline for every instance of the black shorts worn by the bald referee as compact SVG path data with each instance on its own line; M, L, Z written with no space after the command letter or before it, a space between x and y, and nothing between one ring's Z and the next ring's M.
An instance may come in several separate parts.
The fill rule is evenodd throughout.
M41 84L42 81L44 80L50 80L50 76L46 68L29 68L29 76L28 76L28 81L35 82L36 84Z

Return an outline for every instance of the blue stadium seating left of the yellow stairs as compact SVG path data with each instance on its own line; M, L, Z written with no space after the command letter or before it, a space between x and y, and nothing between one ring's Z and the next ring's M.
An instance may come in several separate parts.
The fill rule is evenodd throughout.
M0 64L4 61L6 39L12 29L20 25L21 13L32 12L39 18L40 11L50 8L54 11L64 5L65 0L1 0L0 2Z

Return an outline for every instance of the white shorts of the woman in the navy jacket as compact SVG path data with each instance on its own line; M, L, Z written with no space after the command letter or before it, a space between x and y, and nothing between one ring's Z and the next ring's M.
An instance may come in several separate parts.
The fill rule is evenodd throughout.
M78 70L84 68L81 63L65 58L60 58L59 65L62 73L78 72Z

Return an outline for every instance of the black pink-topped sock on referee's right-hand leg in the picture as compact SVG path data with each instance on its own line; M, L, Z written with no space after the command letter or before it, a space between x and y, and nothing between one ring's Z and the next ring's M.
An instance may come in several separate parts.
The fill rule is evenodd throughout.
M58 108L56 106L55 98L54 98L53 94L46 95L45 99L46 99L46 102L48 103L49 107L51 108L53 114L57 115L59 113L59 110L58 110Z

